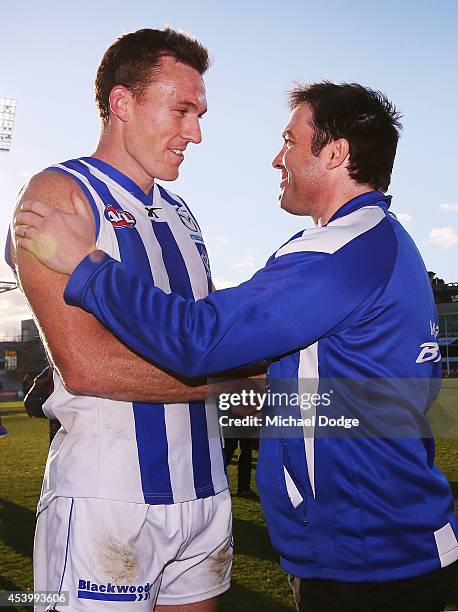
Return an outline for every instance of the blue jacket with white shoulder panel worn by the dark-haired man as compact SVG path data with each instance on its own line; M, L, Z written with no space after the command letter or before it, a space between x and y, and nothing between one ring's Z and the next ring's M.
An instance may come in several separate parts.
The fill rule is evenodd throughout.
M261 440L261 501L295 576L396 580L458 559L453 497L426 418L440 386L437 313L421 256L389 204L380 192L350 200L251 280L197 302L151 289L108 256L84 259L67 284L68 303L181 374L270 359L273 385L362 386L326 410L363 418L363 435L318 435L312 423ZM316 417L326 414L316 406Z

